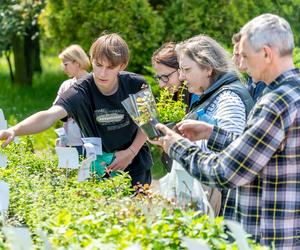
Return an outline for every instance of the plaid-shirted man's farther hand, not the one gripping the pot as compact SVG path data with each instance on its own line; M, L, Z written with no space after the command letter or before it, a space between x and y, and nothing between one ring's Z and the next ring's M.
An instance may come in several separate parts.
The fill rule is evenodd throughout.
M191 141L208 140L213 130L213 125L196 120L183 120L175 127L182 136Z

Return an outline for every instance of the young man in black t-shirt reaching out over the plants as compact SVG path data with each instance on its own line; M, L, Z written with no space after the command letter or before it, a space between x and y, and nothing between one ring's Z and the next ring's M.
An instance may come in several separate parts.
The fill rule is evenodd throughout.
M132 121L121 102L145 84L143 77L124 72L129 61L126 42L117 34L99 37L91 46L93 73L79 80L53 107L1 131L6 146L17 135L38 133L55 121L72 117L85 137L101 137L103 151L115 153L110 170L125 170L132 184L151 183L151 154L147 137Z

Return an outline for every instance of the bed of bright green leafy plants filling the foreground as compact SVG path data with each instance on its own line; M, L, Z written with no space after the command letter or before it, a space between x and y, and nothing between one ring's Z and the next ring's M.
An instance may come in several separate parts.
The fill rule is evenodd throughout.
M54 249L125 249L132 244L184 249L182 237L203 239L212 249L237 249L221 218L180 210L147 189L133 196L126 175L78 183L77 170L67 178L56 159L32 154L28 141L5 153L9 166L0 169L0 180L10 185L7 223L29 227L38 249L41 229ZM0 234L0 247L5 245Z

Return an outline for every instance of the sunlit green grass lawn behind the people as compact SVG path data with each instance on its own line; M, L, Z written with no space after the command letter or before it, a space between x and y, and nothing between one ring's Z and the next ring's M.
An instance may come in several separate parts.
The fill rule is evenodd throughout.
M55 97L60 84L67 76L60 69L60 61L55 57L42 58L43 73L34 76L32 86L12 85L9 79L7 63L0 58L0 108L3 110L9 126L40 110L48 109ZM60 126L58 122L54 127ZM56 134L54 127L33 135L33 147L36 153L47 152L54 154ZM165 174L160 163L160 151L151 146L154 167L153 178L157 179Z

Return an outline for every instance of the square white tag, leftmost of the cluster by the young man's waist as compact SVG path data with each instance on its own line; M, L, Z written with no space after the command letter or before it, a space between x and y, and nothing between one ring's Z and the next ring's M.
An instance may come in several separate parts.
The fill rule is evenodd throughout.
M59 168L77 169L79 167L79 156L76 148L55 147L55 150Z

